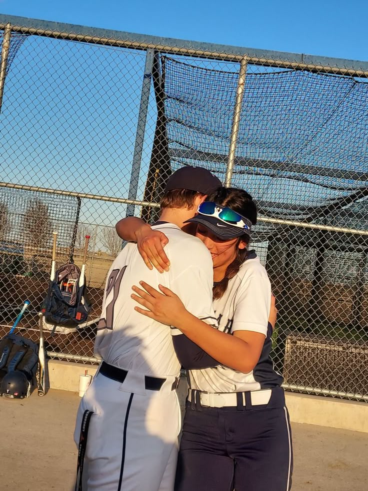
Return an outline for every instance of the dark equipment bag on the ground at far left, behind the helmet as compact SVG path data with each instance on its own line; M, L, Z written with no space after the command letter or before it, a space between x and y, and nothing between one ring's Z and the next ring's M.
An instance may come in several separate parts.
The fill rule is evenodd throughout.
M38 366L38 345L17 334L0 340L0 381L6 373L21 370L32 383Z

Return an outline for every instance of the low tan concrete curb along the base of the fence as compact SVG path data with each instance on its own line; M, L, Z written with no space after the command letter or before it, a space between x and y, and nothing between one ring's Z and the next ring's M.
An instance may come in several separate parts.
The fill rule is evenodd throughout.
M49 386L77 392L79 375L84 370L94 375L96 369L96 365L49 360ZM181 402L185 399L186 390L186 380L182 379L178 389ZM368 433L368 403L286 392L286 405L292 422Z

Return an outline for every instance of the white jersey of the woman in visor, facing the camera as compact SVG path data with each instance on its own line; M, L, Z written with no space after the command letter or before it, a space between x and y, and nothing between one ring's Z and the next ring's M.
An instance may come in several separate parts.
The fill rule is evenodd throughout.
M260 332L268 339L270 303L271 285L266 270L255 254L249 254L237 274L229 280L223 296L213 301L218 329L230 334L237 330ZM267 360L266 371L269 371L268 357ZM270 375L272 377L273 374ZM192 389L205 392L243 392L263 388L255 376L255 368L246 374L223 365L190 370L189 381Z

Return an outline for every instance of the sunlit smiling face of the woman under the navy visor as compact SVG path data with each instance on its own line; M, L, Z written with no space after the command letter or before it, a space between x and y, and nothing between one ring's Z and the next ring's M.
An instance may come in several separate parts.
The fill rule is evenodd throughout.
M221 240L202 225L197 226L195 236L203 242L211 253L213 268L221 266L226 268L235 259L237 248L244 249L246 247L243 241L240 241L237 246L237 238Z

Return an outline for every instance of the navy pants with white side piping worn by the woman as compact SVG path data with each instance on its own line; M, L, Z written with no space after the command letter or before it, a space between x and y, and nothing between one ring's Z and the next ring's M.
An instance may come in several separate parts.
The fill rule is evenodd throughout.
M213 408L186 401L175 491L289 491L291 473L281 387L260 406L247 401L246 407Z

